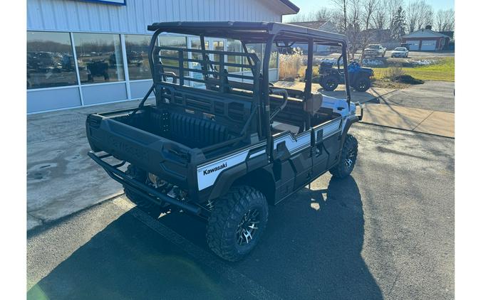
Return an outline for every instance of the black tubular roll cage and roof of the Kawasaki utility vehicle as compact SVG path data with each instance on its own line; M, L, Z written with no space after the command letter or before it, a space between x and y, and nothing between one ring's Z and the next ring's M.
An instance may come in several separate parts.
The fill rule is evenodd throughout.
M152 73L152 79L154 84L150 88L147 95L145 95L142 102L140 102L140 107L142 107L147 100L148 96L152 91L155 90L156 80L162 80L162 83L167 82L167 77L172 77L172 81L177 85L176 80L178 79L179 85L185 84L185 80L190 80L192 82L202 82L207 85L208 75L214 75L219 77L219 90L224 88L232 87L229 85L227 77L237 77L241 79L253 80L252 87L252 107L249 118L242 129L241 136L236 139L227 141L228 144L231 142L237 142L245 137L247 134L247 128L249 127L254 115L259 113L259 118L261 119L262 127L258 129L259 136L262 136L267 141L267 156L269 160L272 159L272 151L274 147L273 139L271 136L271 112L270 112L270 97L269 97L269 61L271 58L272 44L280 45L284 43L285 46L293 45L294 43L307 43L308 53L307 53L307 68L306 68L306 85L304 87L304 101L311 97L311 87L312 87L312 68L313 68L313 58L314 58L314 44L317 45L333 45L341 47L341 56L343 58L343 75L346 83L346 101L348 102L348 107L351 104L351 92L349 90L349 77L346 70L348 70L348 59L347 59L347 43L346 38L342 35L336 33L328 33L325 31L319 31L311 28L305 28L302 26L295 26L285 23L267 23L267 22L163 22L163 23L153 23L148 26L149 31L155 31L152 35L152 40L150 41L149 48L149 63L150 71ZM187 49L187 48L172 48L172 47L159 47L157 44L157 37L160 33L180 33L192 36L200 37L201 49ZM206 50L205 49L205 37L212 38L231 38L234 40L241 41L244 53L238 52L228 52L228 51L217 51L217 50ZM259 59L257 55L247 53L246 44L248 43L265 43L264 59L262 61L262 75L260 75L260 70L257 68L257 62ZM175 56L163 56L159 55L160 50L171 50L177 51L178 55ZM184 58L185 52L198 53L202 55L202 60L193 58ZM209 54L219 55L219 62L212 62L209 58ZM248 65L228 63L225 61L224 55L238 55L247 58ZM156 67L155 57L165 58L170 60L178 60L179 65L175 66L165 66L165 68L176 69L179 75L173 72L165 72L160 64L160 68ZM257 60L257 61L256 61ZM202 70L185 68L185 62L195 62L202 65ZM219 65L219 71L214 72L208 70L208 67L214 69L212 65ZM239 68L249 68L252 70L252 76L248 75L236 75L227 74L224 72L224 66L233 66ZM185 71L189 72L200 72L202 73L204 80L200 80L194 77L186 77L184 75ZM260 76L260 77L259 77ZM257 78L261 79L261 85L257 82ZM163 88L162 88L163 90ZM163 95L162 95L163 96ZM171 91L171 97L175 97ZM135 112L137 112L137 110ZM135 112L133 112L135 114ZM306 112L305 129L311 129L311 114ZM223 143L225 144L225 143ZM217 146L217 145L216 145Z

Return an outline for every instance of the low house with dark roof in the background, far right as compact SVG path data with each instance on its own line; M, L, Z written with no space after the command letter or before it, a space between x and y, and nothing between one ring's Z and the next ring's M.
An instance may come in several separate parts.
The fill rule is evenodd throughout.
M403 36L401 43L407 43L410 51L448 50L452 36L454 36L453 31L444 31L441 33L432 31L431 26L426 26L426 28Z

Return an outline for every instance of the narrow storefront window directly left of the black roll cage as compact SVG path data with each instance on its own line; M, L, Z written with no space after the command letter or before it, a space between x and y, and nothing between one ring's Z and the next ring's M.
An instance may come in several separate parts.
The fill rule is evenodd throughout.
M125 52L127 53L127 68L130 80L152 78L148 58L150 38L152 36L125 35Z

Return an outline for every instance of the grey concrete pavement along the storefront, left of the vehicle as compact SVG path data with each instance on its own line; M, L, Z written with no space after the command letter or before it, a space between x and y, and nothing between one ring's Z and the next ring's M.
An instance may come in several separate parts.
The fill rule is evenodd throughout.
M87 114L137 107L139 101L27 117L27 230L123 193L88 156Z

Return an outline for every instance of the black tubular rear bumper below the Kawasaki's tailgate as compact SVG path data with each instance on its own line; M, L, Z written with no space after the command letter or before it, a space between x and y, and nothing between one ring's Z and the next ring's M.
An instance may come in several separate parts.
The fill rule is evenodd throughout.
M105 170L105 172L107 172L108 176L113 178L113 180L117 181L123 186L128 186L136 193L143 195L146 199L152 201L152 203L160 205L161 201L163 201L165 203L175 205L178 208L182 208L182 210L187 210L188 212L193 213L195 215L200 214L201 212L200 207L196 205L191 205L189 203L184 203L168 195L162 194L159 191L156 191L154 188L147 186L145 183L140 183L139 181L135 181L135 179L128 176L125 172L120 171L119 168L125 164L125 161L122 161L119 164L111 165L103 160L107 157L112 156L111 154L98 156L97 154L93 153L93 151L89 151L88 156L90 156L90 159L93 159L93 161L95 161L98 165L100 165Z

